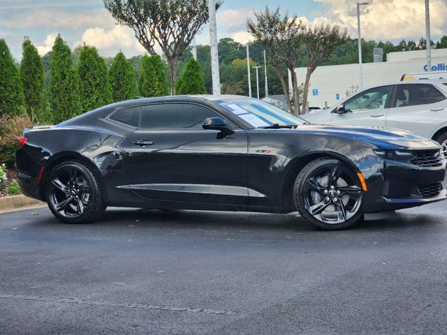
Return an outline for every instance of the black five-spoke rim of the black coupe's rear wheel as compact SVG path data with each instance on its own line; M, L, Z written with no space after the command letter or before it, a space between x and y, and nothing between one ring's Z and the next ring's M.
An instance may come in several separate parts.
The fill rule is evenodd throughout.
M52 177L48 192L54 211L66 218L78 218L91 203L91 185L78 168L61 169Z

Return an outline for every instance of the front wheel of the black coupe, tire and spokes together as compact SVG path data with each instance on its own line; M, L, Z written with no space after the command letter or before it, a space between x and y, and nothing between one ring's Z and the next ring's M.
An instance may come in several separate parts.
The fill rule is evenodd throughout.
M340 173L341 176L335 179L336 188L334 188L334 190L330 188L330 185L334 184L330 183L331 174L329 169L332 168L341 171L337 172L337 174ZM328 170L328 176L323 177L323 179L327 179L323 182L323 179L320 177L319 182L321 182L321 184L318 184L318 182L317 185L314 186L316 177L312 176L318 174L319 171L323 173L325 170ZM344 179L346 179L346 182ZM346 184L346 186L337 186L337 183L343 183ZM318 191L316 191L317 188ZM335 158L318 158L315 161L308 163L298 174L293 186L293 200L298 212L307 222L320 230L342 230L353 227L353 225L362 221L362 194L363 191L356 173L352 168ZM335 198L337 198L337 200L335 200ZM346 200L346 198L348 198L348 200ZM318 204L322 205L317 207ZM326 211L322 211L316 215L311 214L311 211L318 213L323 207L328 210L330 208L334 209L332 214L328 213L328 215L333 216L332 220L323 217L323 214L325 214Z

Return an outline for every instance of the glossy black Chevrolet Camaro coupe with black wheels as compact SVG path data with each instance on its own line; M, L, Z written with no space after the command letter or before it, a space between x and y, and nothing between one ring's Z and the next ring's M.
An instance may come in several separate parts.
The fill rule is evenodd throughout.
M318 126L242 96L141 98L25 129L23 192L66 223L107 206L289 213L326 230L446 199L439 145Z

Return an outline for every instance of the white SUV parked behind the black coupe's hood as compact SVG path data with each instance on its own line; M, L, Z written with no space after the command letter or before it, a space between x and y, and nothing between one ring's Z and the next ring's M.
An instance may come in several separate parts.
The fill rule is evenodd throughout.
M447 81L418 80L369 87L335 107L302 115L313 124L398 128L441 144L447 158Z

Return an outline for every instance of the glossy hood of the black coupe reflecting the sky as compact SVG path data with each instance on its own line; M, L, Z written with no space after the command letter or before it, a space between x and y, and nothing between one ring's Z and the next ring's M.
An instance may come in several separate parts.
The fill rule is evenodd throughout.
M425 137L399 129L363 126L327 126L305 124L299 131L321 133L323 135L349 137L366 142L381 149L438 149L439 145Z

